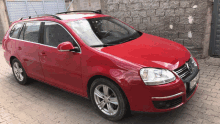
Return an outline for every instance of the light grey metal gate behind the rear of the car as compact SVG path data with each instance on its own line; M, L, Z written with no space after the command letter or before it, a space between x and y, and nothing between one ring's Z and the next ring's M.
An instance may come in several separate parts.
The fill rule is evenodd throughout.
M66 11L65 0L6 0L10 22L21 17Z

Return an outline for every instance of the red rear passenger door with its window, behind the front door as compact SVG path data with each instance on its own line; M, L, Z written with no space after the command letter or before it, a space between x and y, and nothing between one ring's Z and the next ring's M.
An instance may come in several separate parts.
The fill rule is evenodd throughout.
M19 40L16 41L16 47L28 76L43 81L44 74L39 59L40 27L39 21L26 22L18 37Z

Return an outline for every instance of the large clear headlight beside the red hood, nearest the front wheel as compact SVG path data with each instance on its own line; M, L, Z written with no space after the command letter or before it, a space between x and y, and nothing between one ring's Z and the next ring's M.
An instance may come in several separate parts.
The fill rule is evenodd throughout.
M176 80L175 75L166 69L142 68L140 75L146 85L160 85Z

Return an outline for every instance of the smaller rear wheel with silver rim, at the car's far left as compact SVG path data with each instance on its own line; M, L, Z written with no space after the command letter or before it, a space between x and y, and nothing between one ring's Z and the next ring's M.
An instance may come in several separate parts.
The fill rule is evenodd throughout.
M28 84L28 76L18 59L12 60L12 71L15 79L21 85ZM21 75L20 75L21 74ZM22 76L22 77L21 77ZM20 78L19 78L20 77Z

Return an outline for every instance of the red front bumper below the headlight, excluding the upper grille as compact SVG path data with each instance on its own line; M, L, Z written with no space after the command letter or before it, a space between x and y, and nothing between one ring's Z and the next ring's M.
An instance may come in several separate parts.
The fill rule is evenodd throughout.
M198 72L197 75L199 75ZM133 96L138 97L133 97L132 100L129 99L130 108L132 111L142 112L167 112L174 110L185 104L195 94L198 83L199 79L190 90L185 88L184 82L180 78L164 85L133 86ZM189 88L189 85L190 83L187 83L187 88Z

